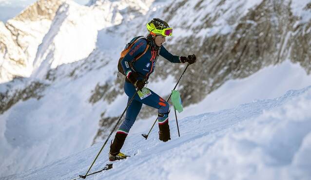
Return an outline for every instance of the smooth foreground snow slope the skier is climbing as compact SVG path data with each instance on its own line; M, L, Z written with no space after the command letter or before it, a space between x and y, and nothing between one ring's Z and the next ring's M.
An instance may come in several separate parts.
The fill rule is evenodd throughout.
M88 180L308 180L311 176L311 86L281 97L190 116L177 137L162 143L157 130L145 141L131 133L123 152L132 157ZM69 180L84 174L102 143L3 180ZM105 147L92 170L108 163ZM134 154L136 154L134 156Z

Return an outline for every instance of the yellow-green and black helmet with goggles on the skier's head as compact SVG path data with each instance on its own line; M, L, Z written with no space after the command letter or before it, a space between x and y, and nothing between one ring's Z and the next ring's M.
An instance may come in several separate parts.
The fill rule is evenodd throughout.
M172 36L173 28L170 28L167 22L159 18L154 18L147 23L147 29L151 34L161 36Z

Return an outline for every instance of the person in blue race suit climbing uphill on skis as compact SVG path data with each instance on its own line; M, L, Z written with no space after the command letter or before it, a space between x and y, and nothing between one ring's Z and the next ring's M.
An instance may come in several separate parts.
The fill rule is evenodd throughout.
M170 112L169 104L154 91L144 86L150 74L155 70L155 63L159 55L172 63L188 62L189 64L193 64L196 61L194 54L188 55L187 57L172 55L163 47L162 44L165 42L165 37L172 36L173 32L173 28L170 28L165 21L154 18L147 23L147 29L149 31L147 38L140 38L136 41L121 60L123 71L126 74L124 91L126 95L129 96L128 101L130 101L131 97L136 93L136 88L139 91L127 109L125 120L117 130L115 139L110 145L109 161L126 159L126 157L128 157L121 153L120 149L136 120L142 104L158 109L159 139L163 142L171 139L168 122ZM147 45L149 45L149 47ZM147 51L146 47L148 47ZM133 62L137 55L144 52L145 54Z

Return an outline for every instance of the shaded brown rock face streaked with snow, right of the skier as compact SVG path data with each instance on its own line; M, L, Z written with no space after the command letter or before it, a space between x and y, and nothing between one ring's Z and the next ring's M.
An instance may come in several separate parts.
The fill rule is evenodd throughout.
M190 4L190 1L180 0L167 7L163 11L167 12L164 19L170 24L173 22L176 29L192 31L187 38L174 37L169 49L175 54L194 53L198 57L198 63L191 66L195 72L181 82L187 87L181 90L185 105L200 101L228 79L247 77L289 56L310 73L310 33L307 33L310 32L310 20L300 23L301 17L292 14L292 3L262 0L247 9L248 4L244 1L208 3L198 0L196 4ZM192 17L194 20L189 20L183 14L186 8L202 13L196 13ZM209 8L214 11L204 10ZM304 9L309 9L310 13L310 3ZM215 30L218 32L213 32ZM183 46L176 46L177 43ZM174 72L176 69L169 73Z

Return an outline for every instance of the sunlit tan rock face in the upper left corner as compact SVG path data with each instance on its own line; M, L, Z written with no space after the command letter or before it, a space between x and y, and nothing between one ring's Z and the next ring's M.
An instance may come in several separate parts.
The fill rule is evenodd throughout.
M0 22L0 83L32 73L39 44L64 0L39 0L4 25Z

